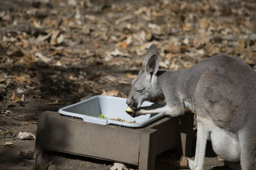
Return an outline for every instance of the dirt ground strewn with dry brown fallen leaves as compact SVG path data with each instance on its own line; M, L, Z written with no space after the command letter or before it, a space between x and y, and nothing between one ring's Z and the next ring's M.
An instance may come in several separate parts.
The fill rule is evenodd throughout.
M256 69L255 23L253 0L0 1L0 169L35 169L39 113L84 96L127 97L152 43L161 69L186 69L221 53ZM20 139L20 132L32 136ZM55 152L49 158L40 169L114 163ZM179 169L163 161L176 159L160 156L156 169ZM205 169L228 168L208 154Z

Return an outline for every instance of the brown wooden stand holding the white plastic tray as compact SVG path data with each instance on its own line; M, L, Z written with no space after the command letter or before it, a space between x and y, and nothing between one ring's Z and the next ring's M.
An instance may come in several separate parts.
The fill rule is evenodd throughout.
M146 127L131 129L92 124L45 111L38 119L35 156L52 150L134 164L140 170L154 169L156 155L171 148L177 148L180 154L191 154L192 131L186 132L180 125L192 125L192 129L193 117L187 113L185 117L164 117Z

